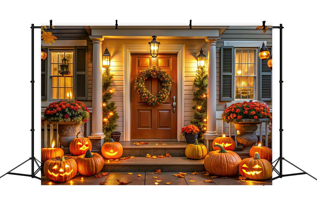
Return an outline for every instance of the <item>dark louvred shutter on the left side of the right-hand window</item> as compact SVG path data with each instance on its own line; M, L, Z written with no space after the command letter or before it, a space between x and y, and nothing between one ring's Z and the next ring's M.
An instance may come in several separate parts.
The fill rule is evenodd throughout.
M221 46L220 100L235 100L234 91L234 49L232 46Z

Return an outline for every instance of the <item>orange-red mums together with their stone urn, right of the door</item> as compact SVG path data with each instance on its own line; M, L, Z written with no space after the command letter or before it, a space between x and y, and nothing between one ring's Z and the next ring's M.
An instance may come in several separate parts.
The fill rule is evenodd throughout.
M266 103L258 101L243 101L226 108L221 118L224 122L235 124L240 134L236 137L238 143L243 145L242 151L249 151L257 143L258 138L254 132L261 122L272 122L270 109Z

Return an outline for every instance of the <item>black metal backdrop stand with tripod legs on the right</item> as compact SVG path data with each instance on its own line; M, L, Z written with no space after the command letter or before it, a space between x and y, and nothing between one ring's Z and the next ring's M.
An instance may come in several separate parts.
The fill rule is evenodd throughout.
M305 172L304 170L302 170L301 168L298 168L297 166L295 166L293 163L289 162L288 160L286 160L283 156L282 156L282 132L283 132L283 129L282 129L282 29L284 28L282 26L282 24L280 24L280 26L272 26L273 29L280 29L280 157L277 158L273 163L272 165L276 162L275 166L273 166L273 170L272 171L275 171L277 173L278 176L272 178L272 180L275 180L277 178L282 178L282 177L285 177L285 176L291 176L291 175L303 175L303 174L307 174L309 175L307 172ZM292 166L298 168L299 170L302 171L302 173L293 173L293 174L286 174L286 175L283 175L282 173L282 162L286 161L288 162L289 164L291 164ZM277 170L276 166L277 164L280 162L280 171ZM309 175L311 176L312 178L314 178L315 180L317 180L314 176L312 175Z

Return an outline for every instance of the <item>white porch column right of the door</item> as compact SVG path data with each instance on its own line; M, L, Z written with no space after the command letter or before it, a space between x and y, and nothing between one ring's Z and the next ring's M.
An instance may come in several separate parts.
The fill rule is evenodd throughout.
M207 149L209 142L218 137L216 131L216 104L217 104L217 88L216 88L216 41L220 37L207 37L208 42L208 87L207 87L207 131L203 137L206 139Z

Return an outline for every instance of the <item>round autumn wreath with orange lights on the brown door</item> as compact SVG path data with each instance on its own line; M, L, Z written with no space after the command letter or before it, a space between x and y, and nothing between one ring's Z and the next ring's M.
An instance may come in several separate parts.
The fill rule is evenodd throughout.
M147 78L158 78L162 82L162 88L159 91L157 96L154 96L146 87L145 81ZM166 73L165 70L157 67L155 65L151 65L148 68L143 69L135 78L134 82L134 90L136 90L141 97L149 105L160 105L162 104L168 97L168 94L172 90L173 79L171 76Z

